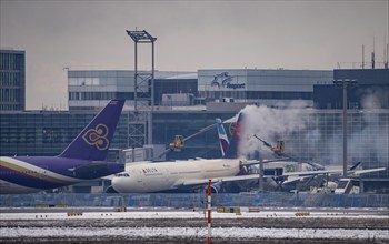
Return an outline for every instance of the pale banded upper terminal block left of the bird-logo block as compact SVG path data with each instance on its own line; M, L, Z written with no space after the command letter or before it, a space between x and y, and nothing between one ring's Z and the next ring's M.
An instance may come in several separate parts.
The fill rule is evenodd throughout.
M177 77L187 72L156 71L154 100L160 104L163 93L184 92L194 89L189 84L178 84ZM160 83L163 82L163 85ZM197 84L194 84L197 85ZM167 88L169 87L169 88ZM126 99L126 106L134 105L134 71L128 70L69 70L68 71L69 110L90 110L101 108L111 99Z

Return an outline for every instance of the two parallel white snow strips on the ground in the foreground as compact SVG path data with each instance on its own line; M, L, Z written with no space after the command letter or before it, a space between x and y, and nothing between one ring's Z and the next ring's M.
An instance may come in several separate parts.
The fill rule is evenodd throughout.
M39 211L39 210L37 210ZM77 209L66 209L62 212L43 212L41 213L1 213L0 221L23 221L23 220L79 220L88 222L88 220L162 220L162 218L182 218L194 220L206 218L203 211L134 211L129 212L83 212ZM309 216L296 216L296 213L308 213ZM68 213L78 213L68 215ZM388 220L389 216L367 214L363 212L315 212L309 210L291 210L291 211L261 211L261 212L241 212L235 213L217 213L212 212L212 218L381 218ZM87 225L88 226L88 225ZM389 226L388 226L389 227ZM23 237L107 237L107 236L133 236L133 237L161 237L178 236L206 238L207 227L1 227L1 238L23 238ZM265 228L265 227L213 227L213 237L221 238L330 238L330 240L383 240L389 242L389 231L386 230L357 230L357 228Z

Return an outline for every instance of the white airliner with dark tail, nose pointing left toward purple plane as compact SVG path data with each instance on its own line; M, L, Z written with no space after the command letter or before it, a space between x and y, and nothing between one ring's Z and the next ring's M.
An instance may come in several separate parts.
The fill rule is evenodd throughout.
M188 192L212 179L212 190L218 192L222 182L242 181L245 176L251 176L242 174L246 174L246 166L258 164L258 161L238 159L237 154L240 118L241 114L223 159L127 164L126 171L112 179L112 187L119 193Z

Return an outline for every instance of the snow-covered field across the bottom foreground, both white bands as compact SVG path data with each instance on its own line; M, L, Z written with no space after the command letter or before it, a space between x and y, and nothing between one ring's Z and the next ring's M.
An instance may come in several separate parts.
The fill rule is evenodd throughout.
M37 210L37 209L36 209ZM243 209L245 210L245 209ZM37 210L40 211L40 210ZM309 215L296 216L296 213L308 213ZM68 213L72 213L68 215ZM2 222L0 228L0 242L18 242L27 238L39 240L64 240L74 238L93 238L93 240L158 240L161 237L178 237L182 240L206 240L207 238L207 221L203 211L134 211L129 212L80 212L80 209L67 209L64 212L36 212L36 213L4 213L0 214ZM346 240L350 241L371 241L376 243L389 243L389 216L368 215L366 212L359 211L260 211L260 212L241 212L235 213L217 213L212 212L215 222L225 221L235 223L235 221L256 220L266 222L273 220L275 223L299 220L306 222L313 220L319 223L331 221L340 223L347 221L353 223L356 221L377 221L381 224L376 227L348 227L347 223L342 227L336 225L333 227L301 227L290 225L290 227L263 227L258 225L242 226L213 226L212 237L223 241L245 243L245 240ZM116 221L121 221L121 225L113 225ZM168 225L168 222L174 224ZM182 224L181 224L182 221ZM187 222L197 221L197 226L186 226ZM101 223L102 225L93 225ZM146 225L148 223L163 223L162 226ZM42 224L43 223L43 224ZM71 223L71 224L70 224ZM77 226L74 226L74 223ZM106 224L107 223L107 224ZM122 225L124 223L126 225ZM258 223L258 222L257 222ZM388 224L386 224L388 223ZM138 227L137 227L138 226ZM163 227L164 226L164 227ZM198 227L203 226L203 227ZM273 225L272 225L273 226ZM346 226L346 227L345 227Z

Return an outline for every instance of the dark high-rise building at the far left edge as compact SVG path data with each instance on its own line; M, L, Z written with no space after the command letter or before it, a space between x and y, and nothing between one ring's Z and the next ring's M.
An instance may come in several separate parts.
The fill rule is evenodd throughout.
M0 50L0 111L21 111L24 108L24 51Z

